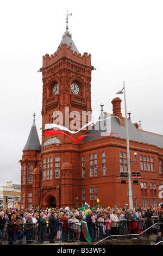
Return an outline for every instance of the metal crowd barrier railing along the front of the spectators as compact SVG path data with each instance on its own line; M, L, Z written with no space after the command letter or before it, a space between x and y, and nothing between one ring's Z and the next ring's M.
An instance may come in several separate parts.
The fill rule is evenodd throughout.
M139 228L138 222L141 224ZM163 230L163 223L159 222L158 218L152 220L136 221L136 226L132 225L130 221L111 222L111 229L108 231L105 224L96 222L93 224L92 235L93 241L97 241L95 245L104 240L110 239L127 239L130 237L142 237L149 235L157 235L159 230ZM12 243L32 243L32 242L73 242L85 241L80 226L74 223L64 224L20 224L19 230L11 229L8 224L3 224L3 234L0 225L0 242L1 235L3 235L3 242ZM41 228L40 228L41 227ZM135 227L135 229L134 229ZM139 233L138 233L138 232ZM163 232L162 232L163 234Z

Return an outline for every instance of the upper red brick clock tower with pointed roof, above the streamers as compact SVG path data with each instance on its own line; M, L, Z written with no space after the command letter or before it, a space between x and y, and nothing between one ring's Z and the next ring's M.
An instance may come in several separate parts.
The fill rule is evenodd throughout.
M91 54L79 53L66 32L54 54L43 56L42 130L45 124L57 123L79 130L91 113ZM60 115L60 117L59 117ZM86 131L86 130L85 130ZM87 131L86 131L87 132Z

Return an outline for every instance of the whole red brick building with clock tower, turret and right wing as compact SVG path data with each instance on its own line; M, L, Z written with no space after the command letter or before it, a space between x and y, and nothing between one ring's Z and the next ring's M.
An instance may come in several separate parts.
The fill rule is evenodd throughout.
M91 54L78 52L66 27L57 51L43 56L42 127L54 123L58 113L62 113L60 125L65 127L75 123L79 130L90 121L90 115L83 113L91 111L92 70ZM105 113L102 106L101 121L73 135L65 133L74 139L112 134L87 136L77 143L66 135L43 136L43 128L40 143L34 115L21 160L21 206L77 208L84 202L97 205L97 199L102 206L129 203L128 179L126 183L120 179L120 172L127 170L125 118L121 99L117 97L111 103L112 114ZM77 115L72 115L74 111ZM130 118L128 131L131 161L137 153L131 173L141 173L141 179L132 176L133 204L158 205L162 200L163 137L143 131Z

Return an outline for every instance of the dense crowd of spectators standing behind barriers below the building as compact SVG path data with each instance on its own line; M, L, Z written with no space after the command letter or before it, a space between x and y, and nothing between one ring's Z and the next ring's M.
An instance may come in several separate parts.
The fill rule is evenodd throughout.
M153 207L128 209L118 208L78 208L65 209L6 209L0 210L0 244L7 239L9 244L80 242L85 240L80 223L85 222L91 241L102 239L140 238L143 230L151 227L153 221L162 222L163 204ZM146 224L145 224L146 223ZM163 225L159 225L162 239ZM148 234L150 234L149 229ZM7 237L6 237L7 236ZM26 240L24 240L26 236Z

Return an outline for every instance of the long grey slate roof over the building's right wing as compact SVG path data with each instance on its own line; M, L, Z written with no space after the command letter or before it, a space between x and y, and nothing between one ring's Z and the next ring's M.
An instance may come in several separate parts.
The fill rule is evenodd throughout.
M109 119L104 121L97 121L95 126L89 129L89 132L87 134L102 136L108 133L117 133L117 135L112 134L111 136L126 139L125 118L124 118L124 126L120 125L120 120L117 117L115 117L115 115L111 115L102 111L99 119L105 119L105 118L109 118ZM129 133L129 140L131 141L147 143L151 145L156 145L159 148L163 148L162 135L158 135L156 133L151 133L143 130L137 130L135 125L131 122L130 119L128 119L128 133ZM85 142L92 141L94 139L99 139L99 137L87 136L85 138Z

